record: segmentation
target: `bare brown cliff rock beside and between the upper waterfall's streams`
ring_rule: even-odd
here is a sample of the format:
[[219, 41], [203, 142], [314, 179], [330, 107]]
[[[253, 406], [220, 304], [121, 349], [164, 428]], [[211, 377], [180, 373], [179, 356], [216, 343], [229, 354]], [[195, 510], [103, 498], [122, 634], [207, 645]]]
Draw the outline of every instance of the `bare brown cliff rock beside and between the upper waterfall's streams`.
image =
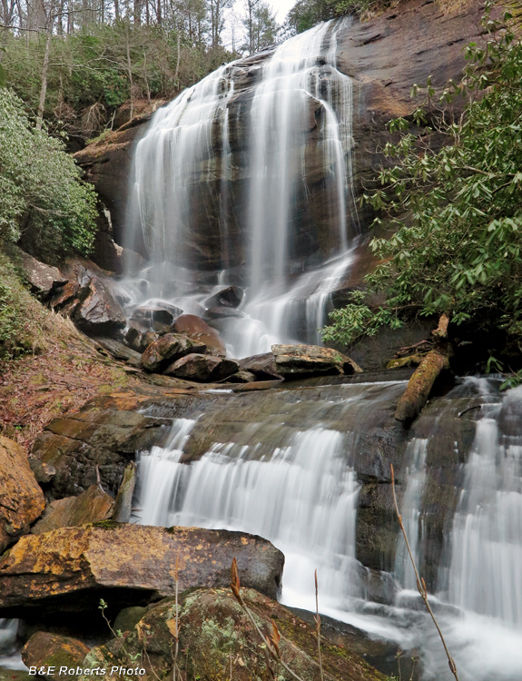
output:
[[[448, 79], [458, 79], [465, 65], [463, 47], [479, 41], [482, 5], [472, 2], [455, 12], [445, 12], [435, 0], [412, 0], [377, 19], [342, 28], [337, 36], [338, 67], [350, 75], [353, 84], [354, 185], [356, 192], [368, 186], [379, 168], [379, 149], [387, 139], [386, 123], [393, 117], [410, 114], [418, 102], [410, 98], [413, 84], [425, 84], [428, 76], [436, 88]], [[261, 66], [270, 52], [257, 54], [234, 65], [231, 78], [234, 94], [229, 109], [231, 179], [228, 183], [227, 253], [229, 264], [244, 261], [248, 156], [251, 150], [251, 97], [259, 84]], [[297, 251], [290, 256], [306, 259], [315, 252], [328, 253], [331, 247], [330, 168], [320, 155], [320, 103], [309, 100], [310, 116], [300, 120], [298, 153], [306, 157], [307, 196], [296, 198], [294, 223]], [[84, 167], [86, 179], [94, 183], [113, 219], [113, 236], [124, 243], [125, 206], [131, 176], [133, 144], [143, 135], [152, 114], [126, 123], [115, 133], [75, 154]], [[222, 144], [215, 135], [211, 155], [202, 158], [198, 172], [187, 183], [201, 185], [199, 200], [191, 206], [195, 229], [184, 244], [192, 266], [204, 270], [222, 267], [220, 234], [220, 193], [222, 192]], [[362, 227], [369, 222], [363, 214]], [[144, 253], [143, 244], [134, 246]]]

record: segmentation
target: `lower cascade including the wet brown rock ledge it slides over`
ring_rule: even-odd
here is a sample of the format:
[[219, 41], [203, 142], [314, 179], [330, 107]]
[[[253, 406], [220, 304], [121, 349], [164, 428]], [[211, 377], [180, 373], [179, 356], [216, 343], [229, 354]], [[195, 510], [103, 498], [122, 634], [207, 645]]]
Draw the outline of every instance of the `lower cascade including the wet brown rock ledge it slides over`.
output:
[[[141, 454], [139, 522], [268, 538], [285, 554], [284, 604], [315, 609], [317, 568], [321, 613], [419, 654], [423, 679], [451, 678], [392, 513], [373, 518], [371, 530], [395, 538], [395, 559], [381, 558], [381, 569], [359, 559], [373, 540], [361, 527], [365, 498], [389, 489], [379, 447], [365, 438], [382, 435], [382, 414], [402, 390], [403, 381], [340, 384], [281, 390], [272, 400], [223, 390], [208, 410], [174, 419], [167, 447]], [[425, 437], [414, 430], [397, 464], [404, 524], [459, 677], [515, 681], [522, 674], [522, 389], [502, 394], [495, 380], [466, 379], [435, 402], [419, 419]], [[452, 418], [469, 428], [458, 419], [469, 403], [475, 436], [466, 444], [444, 424]], [[195, 455], [203, 437], [205, 451]], [[430, 457], [440, 441], [457, 465], [445, 469]], [[441, 476], [454, 510], [430, 497]], [[437, 549], [440, 514], [446, 529]]]

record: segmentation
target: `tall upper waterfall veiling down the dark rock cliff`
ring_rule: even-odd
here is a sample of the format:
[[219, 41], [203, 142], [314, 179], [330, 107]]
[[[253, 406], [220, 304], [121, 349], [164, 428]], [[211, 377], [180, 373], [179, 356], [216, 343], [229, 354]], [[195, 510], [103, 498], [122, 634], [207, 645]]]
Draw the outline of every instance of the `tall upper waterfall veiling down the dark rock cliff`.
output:
[[121, 282], [129, 311], [154, 298], [201, 315], [233, 284], [241, 310], [215, 322], [231, 355], [320, 342], [359, 232], [353, 88], [336, 64], [350, 24], [223, 65], [154, 114], [134, 153], [126, 243], [152, 265]]

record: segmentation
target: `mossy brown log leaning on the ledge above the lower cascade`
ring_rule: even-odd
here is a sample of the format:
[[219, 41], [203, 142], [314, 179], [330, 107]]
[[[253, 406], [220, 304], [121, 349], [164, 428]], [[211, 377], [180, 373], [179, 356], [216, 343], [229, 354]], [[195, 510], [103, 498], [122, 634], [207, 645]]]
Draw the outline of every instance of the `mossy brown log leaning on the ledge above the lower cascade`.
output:
[[395, 410], [395, 418], [398, 421], [409, 423], [419, 416], [428, 400], [433, 384], [438, 379], [438, 375], [448, 367], [448, 352], [443, 350], [428, 352], [409, 379], [408, 387], [399, 400]]

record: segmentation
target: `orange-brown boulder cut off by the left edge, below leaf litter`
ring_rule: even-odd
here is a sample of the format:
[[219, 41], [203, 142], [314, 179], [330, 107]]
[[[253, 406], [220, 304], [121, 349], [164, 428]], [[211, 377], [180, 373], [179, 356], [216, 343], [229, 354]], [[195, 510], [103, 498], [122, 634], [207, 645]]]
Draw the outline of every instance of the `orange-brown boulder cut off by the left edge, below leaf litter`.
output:
[[0, 554], [29, 532], [45, 508], [29, 460], [19, 444], [0, 436]]

